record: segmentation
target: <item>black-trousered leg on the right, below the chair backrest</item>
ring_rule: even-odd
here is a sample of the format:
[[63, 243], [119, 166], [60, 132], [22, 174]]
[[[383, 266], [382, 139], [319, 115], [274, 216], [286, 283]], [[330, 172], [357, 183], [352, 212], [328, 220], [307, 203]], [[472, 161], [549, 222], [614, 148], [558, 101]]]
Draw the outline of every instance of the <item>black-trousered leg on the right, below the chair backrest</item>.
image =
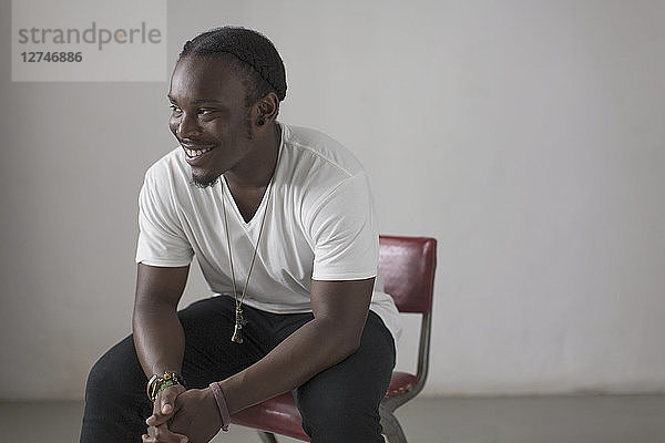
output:
[[382, 442], [379, 404], [393, 367], [392, 336], [370, 311], [360, 348], [295, 391], [313, 442]]

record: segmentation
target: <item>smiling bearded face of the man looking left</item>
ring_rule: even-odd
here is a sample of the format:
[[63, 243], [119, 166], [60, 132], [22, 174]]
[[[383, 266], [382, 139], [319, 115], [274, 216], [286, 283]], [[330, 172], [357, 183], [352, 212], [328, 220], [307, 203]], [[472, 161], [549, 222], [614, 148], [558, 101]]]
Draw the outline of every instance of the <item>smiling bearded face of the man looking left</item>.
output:
[[185, 56], [171, 76], [168, 126], [201, 187], [214, 185], [252, 146], [246, 86], [233, 68], [224, 56]]

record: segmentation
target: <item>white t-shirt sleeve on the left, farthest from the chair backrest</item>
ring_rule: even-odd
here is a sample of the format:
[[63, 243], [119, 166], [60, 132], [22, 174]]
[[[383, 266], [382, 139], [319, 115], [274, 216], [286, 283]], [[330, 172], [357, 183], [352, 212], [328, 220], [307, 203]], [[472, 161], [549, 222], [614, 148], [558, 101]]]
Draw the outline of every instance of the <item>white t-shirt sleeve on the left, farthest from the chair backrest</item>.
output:
[[139, 229], [136, 262], [178, 267], [192, 261], [194, 250], [181, 227], [167, 185], [157, 188], [150, 169], [139, 194]]

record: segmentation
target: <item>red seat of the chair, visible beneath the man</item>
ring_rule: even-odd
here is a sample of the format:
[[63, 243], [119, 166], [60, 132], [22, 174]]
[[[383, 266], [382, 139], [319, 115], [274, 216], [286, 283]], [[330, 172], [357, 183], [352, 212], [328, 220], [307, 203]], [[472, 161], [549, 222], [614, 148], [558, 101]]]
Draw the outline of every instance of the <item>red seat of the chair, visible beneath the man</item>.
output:
[[[386, 396], [390, 398], [409, 392], [417, 380], [416, 375], [408, 372], [392, 372]], [[296, 408], [296, 402], [290, 392], [236, 412], [231, 416], [231, 422], [309, 441], [309, 436], [303, 431], [300, 412]]]

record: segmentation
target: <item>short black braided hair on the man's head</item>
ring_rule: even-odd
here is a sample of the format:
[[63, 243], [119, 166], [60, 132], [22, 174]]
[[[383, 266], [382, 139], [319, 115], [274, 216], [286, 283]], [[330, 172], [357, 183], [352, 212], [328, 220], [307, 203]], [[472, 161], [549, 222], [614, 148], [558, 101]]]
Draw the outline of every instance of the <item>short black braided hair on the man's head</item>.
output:
[[264, 34], [238, 27], [216, 28], [187, 41], [178, 60], [187, 55], [231, 54], [237, 68], [249, 80], [247, 104], [254, 104], [269, 92], [279, 101], [286, 96], [286, 70], [275, 45]]

